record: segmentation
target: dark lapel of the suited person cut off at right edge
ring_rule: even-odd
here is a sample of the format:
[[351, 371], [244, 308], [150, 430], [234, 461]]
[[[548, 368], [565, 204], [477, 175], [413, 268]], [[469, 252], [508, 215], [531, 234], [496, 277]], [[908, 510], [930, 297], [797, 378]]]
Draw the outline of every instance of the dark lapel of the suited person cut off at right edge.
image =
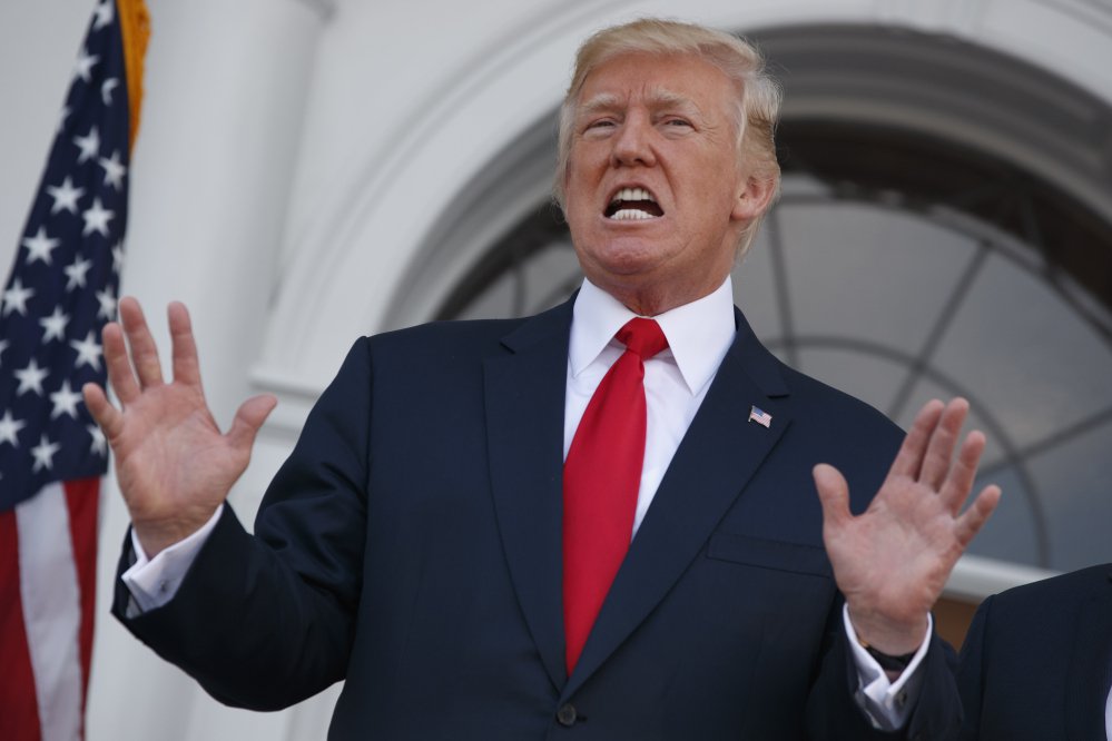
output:
[[1091, 596], [1081, 601], [1066, 671], [1067, 738], [1103, 739], [1104, 707], [1112, 686], [1112, 567], [1098, 571]]

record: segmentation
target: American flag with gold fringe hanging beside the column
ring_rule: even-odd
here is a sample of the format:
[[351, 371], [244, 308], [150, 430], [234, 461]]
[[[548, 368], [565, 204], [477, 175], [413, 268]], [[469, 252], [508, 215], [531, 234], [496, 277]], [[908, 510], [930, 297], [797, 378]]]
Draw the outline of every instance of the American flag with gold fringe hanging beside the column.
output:
[[[121, 19], [121, 12], [124, 18]], [[81, 386], [104, 384], [116, 316], [138, 97], [126, 40], [146, 11], [100, 0], [0, 296], [0, 739], [83, 735], [104, 435]], [[141, 46], [139, 58], [141, 60]], [[128, 47], [134, 52], [136, 47]]]

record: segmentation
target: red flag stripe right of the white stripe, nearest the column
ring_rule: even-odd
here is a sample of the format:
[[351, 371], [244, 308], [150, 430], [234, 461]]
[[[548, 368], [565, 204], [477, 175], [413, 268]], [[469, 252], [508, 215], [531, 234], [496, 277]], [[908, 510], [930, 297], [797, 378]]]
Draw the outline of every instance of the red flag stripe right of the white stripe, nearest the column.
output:
[[[100, 480], [81, 478], [66, 482], [66, 503], [69, 508], [69, 530], [77, 563], [77, 583], [81, 595], [81, 655], [82, 704], [89, 689], [89, 669], [92, 662], [92, 628], [97, 610], [97, 526], [100, 517]], [[82, 719], [85, 714], [81, 714]]]

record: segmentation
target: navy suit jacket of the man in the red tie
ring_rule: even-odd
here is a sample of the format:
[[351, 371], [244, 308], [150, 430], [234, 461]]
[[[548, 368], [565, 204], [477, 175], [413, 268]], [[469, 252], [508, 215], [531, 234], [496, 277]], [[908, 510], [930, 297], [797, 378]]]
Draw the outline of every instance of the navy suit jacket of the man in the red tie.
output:
[[[128, 628], [217, 699], [346, 679], [331, 739], [888, 738], [853, 701], [811, 481], [864, 508], [899, 431], [738, 336], [571, 676], [561, 472], [571, 304], [357, 342], [259, 510]], [[751, 405], [773, 416], [749, 423]], [[126, 562], [126, 554], [125, 554]], [[937, 643], [937, 641], [935, 641]], [[941, 645], [907, 729], [956, 732]]]

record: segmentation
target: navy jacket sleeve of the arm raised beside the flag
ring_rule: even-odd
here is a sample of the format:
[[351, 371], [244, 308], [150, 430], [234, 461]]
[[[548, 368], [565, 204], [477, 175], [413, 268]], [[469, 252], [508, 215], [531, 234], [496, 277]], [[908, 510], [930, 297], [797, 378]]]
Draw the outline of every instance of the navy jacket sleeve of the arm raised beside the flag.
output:
[[[116, 616], [220, 702], [275, 710], [345, 676], [366, 536], [371, 378], [363, 339], [268, 487], [255, 535], [226, 506], [169, 603], [128, 618], [117, 577]], [[126, 543], [120, 572], [129, 552]]]

